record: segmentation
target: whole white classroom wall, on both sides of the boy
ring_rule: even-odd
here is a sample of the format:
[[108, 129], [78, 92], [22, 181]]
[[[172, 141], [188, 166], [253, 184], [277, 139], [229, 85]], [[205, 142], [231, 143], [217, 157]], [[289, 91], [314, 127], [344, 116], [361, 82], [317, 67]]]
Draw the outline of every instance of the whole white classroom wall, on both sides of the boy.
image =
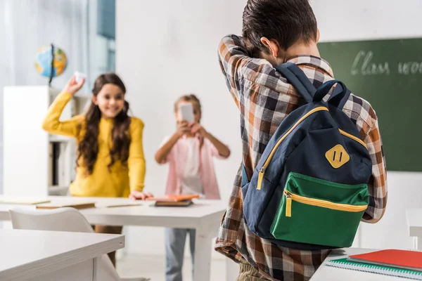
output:
[[[241, 162], [239, 115], [217, 61], [224, 34], [241, 32], [246, 1], [117, 0], [116, 67], [127, 84], [134, 115], [146, 123], [146, 190], [164, 192], [166, 166], [153, 155], [162, 138], [173, 133], [172, 105], [183, 93], [203, 102], [203, 125], [227, 143], [232, 155], [216, 161], [222, 198], [227, 200]], [[421, 37], [422, 4], [418, 0], [312, 0], [321, 41]], [[381, 10], [383, 11], [381, 12]], [[382, 122], [382, 120], [380, 121]], [[382, 132], [381, 132], [382, 133]], [[387, 155], [388, 162], [388, 155]], [[389, 201], [383, 220], [361, 228], [361, 247], [411, 247], [404, 210], [422, 206], [421, 173], [388, 173]], [[126, 228], [126, 251], [163, 254], [162, 230]], [[215, 254], [215, 257], [222, 256]]]

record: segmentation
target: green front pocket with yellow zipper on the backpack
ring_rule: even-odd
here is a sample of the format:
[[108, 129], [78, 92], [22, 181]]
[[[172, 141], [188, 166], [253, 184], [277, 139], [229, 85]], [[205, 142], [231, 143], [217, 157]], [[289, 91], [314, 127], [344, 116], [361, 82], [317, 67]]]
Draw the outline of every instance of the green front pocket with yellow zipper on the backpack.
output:
[[278, 240], [350, 247], [368, 204], [366, 184], [345, 185], [290, 173], [271, 235]]

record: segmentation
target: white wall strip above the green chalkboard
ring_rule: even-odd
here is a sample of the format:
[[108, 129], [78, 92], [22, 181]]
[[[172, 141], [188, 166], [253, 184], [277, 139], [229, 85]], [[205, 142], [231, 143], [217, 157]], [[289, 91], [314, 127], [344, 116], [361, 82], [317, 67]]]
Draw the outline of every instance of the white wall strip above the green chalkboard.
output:
[[320, 41], [421, 37], [422, 1], [311, 0]]

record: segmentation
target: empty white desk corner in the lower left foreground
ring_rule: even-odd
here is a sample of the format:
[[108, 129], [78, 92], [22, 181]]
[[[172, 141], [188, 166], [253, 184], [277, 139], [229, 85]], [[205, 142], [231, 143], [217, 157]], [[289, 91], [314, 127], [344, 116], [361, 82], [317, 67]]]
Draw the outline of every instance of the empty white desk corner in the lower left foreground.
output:
[[124, 235], [0, 229], [0, 280], [95, 280], [95, 259]]

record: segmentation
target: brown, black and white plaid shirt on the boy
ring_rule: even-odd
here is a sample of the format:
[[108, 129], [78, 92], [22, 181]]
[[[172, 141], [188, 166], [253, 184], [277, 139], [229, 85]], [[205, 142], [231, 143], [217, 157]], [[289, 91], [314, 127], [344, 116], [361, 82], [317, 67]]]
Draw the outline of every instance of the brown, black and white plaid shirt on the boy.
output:
[[[297, 64], [315, 87], [333, 79], [331, 66], [321, 58], [300, 55], [289, 61]], [[219, 62], [241, 112], [243, 162], [250, 178], [269, 139], [283, 119], [301, 105], [302, 98], [267, 60], [249, 58], [241, 37], [222, 39]], [[370, 202], [363, 221], [376, 223], [387, 203], [385, 158], [376, 113], [366, 100], [354, 95], [343, 112], [356, 124], [371, 155]], [[251, 233], [243, 219], [241, 174], [240, 163], [215, 249], [237, 262], [245, 259], [269, 280], [309, 280], [329, 250], [288, 249]]]

